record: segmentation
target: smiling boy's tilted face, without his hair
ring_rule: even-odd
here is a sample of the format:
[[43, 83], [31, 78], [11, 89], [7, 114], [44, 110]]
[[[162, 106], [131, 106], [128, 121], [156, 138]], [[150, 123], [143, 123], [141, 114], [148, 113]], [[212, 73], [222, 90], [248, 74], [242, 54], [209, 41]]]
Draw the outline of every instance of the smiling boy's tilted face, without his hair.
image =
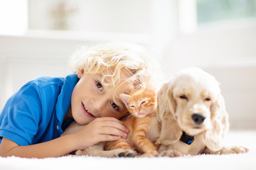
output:
[[71, 111], [75, 121], [81, 125], [90, 123], [95, 118], [121, 118], [128, 111], [119, 98], [124, 89], [117, 89], [116, 103], [113, 98], [114, 86], [103, 86], [100, 74], [78, 74], [71, 97]]

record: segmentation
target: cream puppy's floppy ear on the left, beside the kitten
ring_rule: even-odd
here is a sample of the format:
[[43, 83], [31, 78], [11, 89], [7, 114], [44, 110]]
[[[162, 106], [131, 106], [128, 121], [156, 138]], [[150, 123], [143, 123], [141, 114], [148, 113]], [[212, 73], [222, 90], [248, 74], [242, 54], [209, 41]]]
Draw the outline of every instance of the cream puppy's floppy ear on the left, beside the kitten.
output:
[[176, 103], [173, 97], [171, 82], [164, 84], [157, 95], [156, 118], [161, 123], [159, 140], [161, 145], [171, 145], [177, 142], [182, 130], [179, 128], [176, 117]]

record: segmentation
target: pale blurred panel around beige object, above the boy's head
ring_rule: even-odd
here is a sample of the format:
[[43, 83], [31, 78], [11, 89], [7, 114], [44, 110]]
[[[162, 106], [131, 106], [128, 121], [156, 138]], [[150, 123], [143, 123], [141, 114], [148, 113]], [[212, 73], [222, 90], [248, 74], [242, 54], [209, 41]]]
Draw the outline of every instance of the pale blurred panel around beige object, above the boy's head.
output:
[[70, 15], [65, 18], [69, 30], [110, 33], [150, 33], [151, 1], [149, 0], [31, 0], [30, 26], [53, 29], [54, 11], [65, 2]]

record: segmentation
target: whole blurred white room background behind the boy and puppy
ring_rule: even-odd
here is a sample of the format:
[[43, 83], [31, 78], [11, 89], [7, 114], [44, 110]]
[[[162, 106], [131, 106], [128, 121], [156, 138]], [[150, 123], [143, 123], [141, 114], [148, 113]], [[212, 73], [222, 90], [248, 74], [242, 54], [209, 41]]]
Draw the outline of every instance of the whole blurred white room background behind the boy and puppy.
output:
[[0, 110], [31, 79], [65, 77], [78, 45], [146, 47], [166, 79], [201, 67], [233, 130], [256, 129], [255, 0], [0, 0]]

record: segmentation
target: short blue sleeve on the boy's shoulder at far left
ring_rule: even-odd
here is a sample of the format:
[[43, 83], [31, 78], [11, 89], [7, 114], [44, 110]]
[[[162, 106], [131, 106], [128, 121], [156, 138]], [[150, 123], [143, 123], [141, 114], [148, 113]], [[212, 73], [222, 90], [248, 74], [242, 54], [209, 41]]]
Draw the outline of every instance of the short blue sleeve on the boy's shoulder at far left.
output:
[[11, 96], [0, 115], [0, 136], [18, 145], [31, 145], [41, 122], [42, 106], [38, 86], [26, 84]]

